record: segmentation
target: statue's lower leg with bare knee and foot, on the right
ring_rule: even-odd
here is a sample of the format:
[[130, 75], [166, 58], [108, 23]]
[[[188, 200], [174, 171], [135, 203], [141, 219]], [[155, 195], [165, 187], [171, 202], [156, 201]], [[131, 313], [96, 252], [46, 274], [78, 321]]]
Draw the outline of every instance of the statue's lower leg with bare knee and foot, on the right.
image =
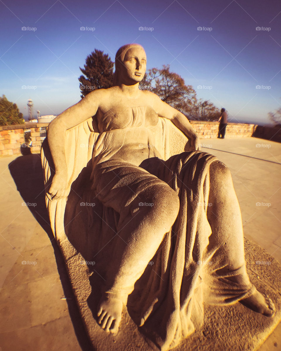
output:
[[[251, 289], [244, 258], [244, 236], [240, 206], [230, 171], [220, 161], [214, 161], [210, 165], [208, 203], [209, 205], [212, 204], [207, 209], [207, 218], [212, 234], [209, 237], [207, 252], [213, 255], [211, 261], [216, 261], [213, 274], [217, 275], [218, 278], [224, 277], [222, 280], [229, 280], [230, 286], [233, 283], [235, 289], [237, 289], [237, 286], [238, 288], [241, 286], [247, 290], [248, 286], [250, 296], [249, 294], [244, 294], [244, 296], [242, 294], [240, 302], [256, 312], [272, 316], [274, 306], [271, 300], [266, 299], [255, 288]], [[211, 270], [212, 266], [210, 266], [209, 271]], [[236, 291], [239, 291], [239, 289]]]

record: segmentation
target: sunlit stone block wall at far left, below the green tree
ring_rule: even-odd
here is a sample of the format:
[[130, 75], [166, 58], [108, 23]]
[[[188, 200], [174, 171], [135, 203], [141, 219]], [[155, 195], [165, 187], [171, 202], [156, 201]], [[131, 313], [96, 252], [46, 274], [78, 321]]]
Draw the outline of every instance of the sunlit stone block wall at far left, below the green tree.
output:
[[[0, 126], [0, 156], [40, 152], [40, 127], [47, 127], [48, 123], [25, 123]], [[32, 147], [28, 147], [24, 140], [24, 131], [30, 129]]]

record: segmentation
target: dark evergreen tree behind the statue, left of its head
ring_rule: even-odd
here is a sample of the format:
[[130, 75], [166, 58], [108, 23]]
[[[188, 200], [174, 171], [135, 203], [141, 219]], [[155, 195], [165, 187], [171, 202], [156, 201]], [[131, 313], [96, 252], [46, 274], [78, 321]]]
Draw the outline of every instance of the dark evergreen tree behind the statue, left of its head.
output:
[[104, 54], [101, 50], [94, 49], [87, 56], [84, 68], [79, 67], [80, 71], [84, 74], [78, 78], [81, 98], [93, 90], [112, 87], [113, 65], [114, 63], [108, 57], [108, 54]]

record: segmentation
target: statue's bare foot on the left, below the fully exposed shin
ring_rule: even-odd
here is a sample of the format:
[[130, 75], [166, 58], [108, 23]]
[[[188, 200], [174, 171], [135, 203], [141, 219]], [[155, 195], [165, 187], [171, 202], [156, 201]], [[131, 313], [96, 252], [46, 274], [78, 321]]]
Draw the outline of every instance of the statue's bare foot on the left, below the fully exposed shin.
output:
[[103, 296], [98, 305], [98, 323], [107, 332], [118, 333], [122, 318], [123, 302], [116, 297]]

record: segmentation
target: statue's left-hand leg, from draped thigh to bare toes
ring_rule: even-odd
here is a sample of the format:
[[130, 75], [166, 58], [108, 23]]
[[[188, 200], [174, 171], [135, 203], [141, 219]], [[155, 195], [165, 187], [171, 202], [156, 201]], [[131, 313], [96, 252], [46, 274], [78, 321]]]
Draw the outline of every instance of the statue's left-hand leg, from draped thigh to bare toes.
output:
[[[115, 334], [123, 303], [176, 220], [179, 199], [168, 184], [136, 166], [115, 168], [103, 177], [111, 184], [106, 204], [119, 207], [120, 220], [115, 257], [109, 263], [106, 288], [98, 305], [98, 322]], [[110, 179], [116, 179], [117, 184]]]

